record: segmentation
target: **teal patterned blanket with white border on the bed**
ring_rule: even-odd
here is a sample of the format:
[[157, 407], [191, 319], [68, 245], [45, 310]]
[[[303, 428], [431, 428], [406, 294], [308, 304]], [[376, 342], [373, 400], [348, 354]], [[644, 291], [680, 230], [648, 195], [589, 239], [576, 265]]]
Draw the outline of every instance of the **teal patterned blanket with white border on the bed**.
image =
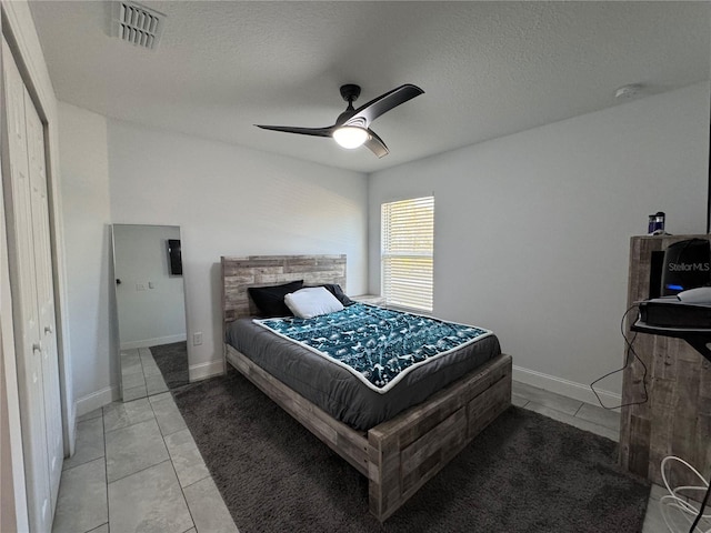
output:
[[254, 322], [344, 366], [381, 393], [412, 369], [492, 334], [472, 325], [363, 303], [312, 319]]

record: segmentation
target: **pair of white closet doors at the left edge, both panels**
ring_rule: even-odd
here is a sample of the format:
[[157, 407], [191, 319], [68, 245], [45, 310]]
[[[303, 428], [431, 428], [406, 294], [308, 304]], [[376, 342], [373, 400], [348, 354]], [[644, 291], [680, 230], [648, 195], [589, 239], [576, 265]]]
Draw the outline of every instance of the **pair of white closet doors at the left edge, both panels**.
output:
[[28, 514], [32, 532], [49, 532], [63, 449], [42, 124], [4, 39], [2, 64], [10, 168], [3, 189]]

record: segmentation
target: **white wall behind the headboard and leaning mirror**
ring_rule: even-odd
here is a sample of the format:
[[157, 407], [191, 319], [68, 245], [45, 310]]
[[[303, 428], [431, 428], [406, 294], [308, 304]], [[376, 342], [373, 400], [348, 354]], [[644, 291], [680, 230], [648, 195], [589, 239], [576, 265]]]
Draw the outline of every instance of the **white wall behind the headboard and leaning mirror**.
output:
[[191, 379], [222, 371], [221, 255], [346, 253], [367, 288], [367, 177], [109, 120], [114, 223], [179, 225]]

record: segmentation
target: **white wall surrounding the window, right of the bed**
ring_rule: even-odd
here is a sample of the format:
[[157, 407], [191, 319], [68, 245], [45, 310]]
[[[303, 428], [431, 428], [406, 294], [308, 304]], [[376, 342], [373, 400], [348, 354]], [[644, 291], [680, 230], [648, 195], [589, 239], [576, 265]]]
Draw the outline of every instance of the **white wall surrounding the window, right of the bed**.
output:
[[[370, 290], [380, 204], [434, 193], [434, 314], [493, 329], [515, 379], [592, 401], [622, 362], [630, 237], [660, 210], [705, 231], [708, 158], [700, 83], [377, 172]], [[614, 402], [621, 378], [599, 386]]]

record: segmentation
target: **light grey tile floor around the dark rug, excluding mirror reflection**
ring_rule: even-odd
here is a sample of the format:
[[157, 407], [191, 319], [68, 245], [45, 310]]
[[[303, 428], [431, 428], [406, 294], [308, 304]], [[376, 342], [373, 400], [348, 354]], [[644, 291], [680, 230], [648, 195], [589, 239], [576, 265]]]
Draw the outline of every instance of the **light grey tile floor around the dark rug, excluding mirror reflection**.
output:
[[[618, 440], [619, 414], [523, 383], [513, 404]], [[652, 489], [642, 533], [668, 533]], [[687, 525], [688, 526], [688, 525]], [[237, 532], [170, 393], [82, 416], [64, 462], [53, 532]], [[680, 530], [682, 531], [682, 530]]]

